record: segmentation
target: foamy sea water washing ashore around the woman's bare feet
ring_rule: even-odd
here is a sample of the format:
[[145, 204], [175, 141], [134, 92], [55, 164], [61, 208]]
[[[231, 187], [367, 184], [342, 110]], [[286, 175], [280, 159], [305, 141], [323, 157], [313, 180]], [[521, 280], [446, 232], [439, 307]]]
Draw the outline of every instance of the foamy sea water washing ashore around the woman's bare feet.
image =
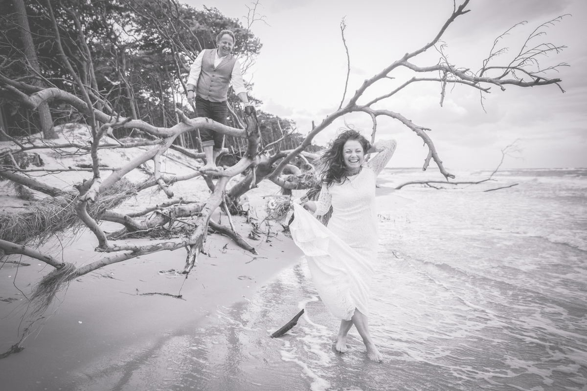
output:
[[[421, 176], [386, 169], [378, 183]], [[587, 169], [494, 179], [406, 186], [393, 192], [409, 200], [399, 208], [380, 198], [369, 325], [383, 363], [366, 358], [355, 328], [349, 351], [335, 352], [339, 321], [302, 259], [168, 339], [166, 378], [144, 372], [145, 389], [587, 390]], [[302, 308], [298, 325], [269, 338]]]

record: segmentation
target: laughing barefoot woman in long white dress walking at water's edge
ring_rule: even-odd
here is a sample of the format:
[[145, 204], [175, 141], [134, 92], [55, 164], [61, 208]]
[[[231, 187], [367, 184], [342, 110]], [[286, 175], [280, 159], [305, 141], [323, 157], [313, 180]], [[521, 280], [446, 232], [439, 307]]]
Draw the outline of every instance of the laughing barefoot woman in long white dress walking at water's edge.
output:
[[[372, 361], [382, 361], [369, 334], [369, 286], [377, 257], [375, 179], [396, 149], [396, 141], [373, 146], [355, 130], [345, 130], [321, 157], [322, 190], [318, 201], [302, 202], [313, 216], [328, 213], [328, 228], [294, 200], [290, 225], [295, 243], [304, 251], [312, 278], [326, 308], [341, 319], [336, 351], [347, 351], [346, 336], [354, 324]], [[365, 163], [365, 155], [379, 152]]]

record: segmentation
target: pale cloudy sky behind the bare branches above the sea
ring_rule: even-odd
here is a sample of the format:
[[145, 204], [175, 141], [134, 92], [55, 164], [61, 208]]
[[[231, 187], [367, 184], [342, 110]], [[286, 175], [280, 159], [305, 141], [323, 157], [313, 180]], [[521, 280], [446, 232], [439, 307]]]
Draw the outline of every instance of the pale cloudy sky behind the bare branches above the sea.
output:
[[[241, 0], [187, 3], [196, 8], [215, 6], [234, 18], [242, 18], [247, 14], [245, 5], [252, 5]], [[568, 46], [558, 55], [541, 59], [542, 66], [570, 65], [550, 75], [562, 79], [566, 93], [555, 85], [508, 86], [505, 91], [492, 87], [484, 101], [485, 113], [477, 90], [456, 86], [447, 91], [444, 107], [440, 107], [440, 86], [426, 82], [411, 84], [374, 108], [402, 113], [431, 128], [430, 136], [449, 169], [493, 168], [500, 161], [500, 149], [518, 138], [521, 158], [508, 158], [506, 167], [586, 167], [587, 1], [472, 0], [468, 9], [471, 12], [457, 18], [443, 40], [449, 62], [473, 72], [481, 67], [494, 39], [515, 23], [528, 22], [502, 41], [510, 52], [494, 64], [507, 64], [542, 23], [571, 14], [545, 29], [548, 35], [541, 38]], [[263, 110], [296, 121], [298, 131], [307, 134], [311, 121], [320, 123], [338, 108], [342, 98], [347, 67], [339, 28], [343, 17], [351, 63], [348, 101], [363, 80], [430, 42], [452, 11], [452, 0], [262, 0], [258, 12], [268, 24], [255, 22], [252, 31], [263, 48], [245, 77], [254, 83], [253, 94], [264, 102]], [[437, 60], [438, 53], [430, 49], [411, 61], [430, 66]], [[402, 70], [390, 76], [397, 79], [379, 81], [359, 104], [393, 89], [412, 74]], [[370, 137], [370, 117], [350, 114], [316, 136], [315, 142], [326, 144], [345, 121]], [[398, 121], [383, 117], [378, 121], [376, 139], [398, 141], [393, 166], [421, 166], [427, 154], [421, 139]]]

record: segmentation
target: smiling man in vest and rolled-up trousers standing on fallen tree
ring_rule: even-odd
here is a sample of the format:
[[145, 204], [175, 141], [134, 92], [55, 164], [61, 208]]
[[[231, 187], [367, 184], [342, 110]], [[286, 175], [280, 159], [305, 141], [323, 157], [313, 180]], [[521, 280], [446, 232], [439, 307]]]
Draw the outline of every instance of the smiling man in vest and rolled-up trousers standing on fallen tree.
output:
[[[196, 57], [187, 79], [187, 100], [194, 100], [195, 114], [226, 125], [228, 115], [227, 94], [232, 81], [234, 93], [246, 106], [251, 106], [242, 81], [241, 64], [230, 54], [234, 46], [234, 33], [222, 30], [216, 36], [218, 49], [205, 49]], [[200, 129], [206, 165], [200, 170], [217, 170], [216, 158], [222, 148], [224, 134], [210, 129]]]

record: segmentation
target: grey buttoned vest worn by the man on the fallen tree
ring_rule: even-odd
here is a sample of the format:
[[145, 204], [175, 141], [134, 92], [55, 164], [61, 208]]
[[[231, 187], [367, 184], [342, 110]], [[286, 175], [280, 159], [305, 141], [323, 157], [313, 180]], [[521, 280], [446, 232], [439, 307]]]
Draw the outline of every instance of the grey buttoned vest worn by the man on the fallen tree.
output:
[[215, 55], [216, 49], [204, 50], [202, 70], [195, 93], [205, 100], [222, 102], [227, 100], [228, 84], [230, 84], [232, 68], [237, 59], [229, 54], [214, 68]]

